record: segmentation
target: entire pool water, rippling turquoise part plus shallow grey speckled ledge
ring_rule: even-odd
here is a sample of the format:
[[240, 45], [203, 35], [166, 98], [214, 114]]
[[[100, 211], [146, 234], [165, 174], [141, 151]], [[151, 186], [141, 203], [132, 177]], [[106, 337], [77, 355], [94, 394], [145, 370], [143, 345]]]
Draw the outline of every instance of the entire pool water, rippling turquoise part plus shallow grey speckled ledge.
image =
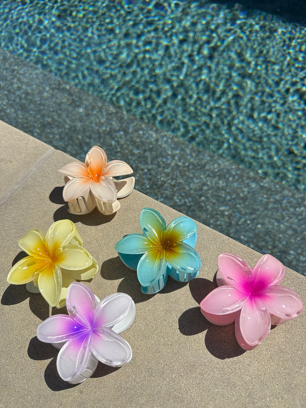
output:
[[2, 1], [0, 118], [304, 273], [303, 15], [223, 3]]

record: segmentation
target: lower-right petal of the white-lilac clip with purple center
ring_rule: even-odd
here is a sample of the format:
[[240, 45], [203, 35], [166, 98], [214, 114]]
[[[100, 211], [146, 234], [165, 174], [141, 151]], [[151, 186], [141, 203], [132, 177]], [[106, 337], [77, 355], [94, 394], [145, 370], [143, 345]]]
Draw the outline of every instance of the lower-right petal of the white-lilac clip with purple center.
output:
[[107, 327], [92, 333], [90, 350], [99, 361], [108, 366], [122, 366], [132, 358], [129, 343]]

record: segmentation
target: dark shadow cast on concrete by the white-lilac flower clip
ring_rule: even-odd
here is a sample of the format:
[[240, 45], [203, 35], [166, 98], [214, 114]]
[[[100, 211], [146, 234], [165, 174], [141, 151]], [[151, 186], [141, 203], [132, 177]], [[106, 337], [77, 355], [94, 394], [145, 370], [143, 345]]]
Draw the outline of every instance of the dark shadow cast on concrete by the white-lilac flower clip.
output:
[[[52, 344], [44, 343], [43, 341], [38, 340], [35, 336], [33, 337], [28, 346], [28, 356], [32, 360], [48, 360], [51, 359], [44, 371], [44, 380], [46, 381], [47, 386], [52, 391], [62, 391], [74, 388], [80, 384], [69, 384], [67, 381], [64, 381], [58, 375], [58, 369], [56, 367], [56, 359], [58, 356], [58, 349], [52, 346]], [[92, 378], [104, 377], [105, 375], [111, 374], [114, 371], [119, 370], [120, 367], [110, 367], [106, 364], [98, 363], [98, 367], [91, 376]], [[90, 378], [91, 378], [90, 377]], [[89, 381], [90, 378], [87, 380]]]

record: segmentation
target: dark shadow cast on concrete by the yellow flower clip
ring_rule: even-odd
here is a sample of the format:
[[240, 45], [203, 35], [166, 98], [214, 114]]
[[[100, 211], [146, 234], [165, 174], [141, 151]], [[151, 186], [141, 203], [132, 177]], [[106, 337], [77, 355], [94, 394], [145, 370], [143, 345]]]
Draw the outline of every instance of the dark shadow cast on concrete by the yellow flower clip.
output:
[[[20, 251], [13, 259], [14, 266], [20, 259], [27, 257], [28, 254]], [[26, 285], [10, 284], [5, 290], [1, 298], [1, 304], [6, 306], [16, 305], [24, 302], [29, 298], [29, 306], [31, 311], [39, 319], [44, 320], [49, 317], [49, 304], [44, 300], [40, 293], [31, 293], [26, 289]]]

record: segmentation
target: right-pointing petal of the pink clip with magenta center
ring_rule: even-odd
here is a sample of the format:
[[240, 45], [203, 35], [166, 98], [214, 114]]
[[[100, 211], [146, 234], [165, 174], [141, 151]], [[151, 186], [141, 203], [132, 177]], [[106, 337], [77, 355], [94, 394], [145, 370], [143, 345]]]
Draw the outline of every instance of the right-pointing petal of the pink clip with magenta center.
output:
[[[272, 315], [279, 317], [284, 323], [294, 319], [303, 311], [303, 302], [299, 295], [285, 286], [269, 286], [264, 290], [260, 299]], [[278, 324], [275, 322], [274, 324]]]

